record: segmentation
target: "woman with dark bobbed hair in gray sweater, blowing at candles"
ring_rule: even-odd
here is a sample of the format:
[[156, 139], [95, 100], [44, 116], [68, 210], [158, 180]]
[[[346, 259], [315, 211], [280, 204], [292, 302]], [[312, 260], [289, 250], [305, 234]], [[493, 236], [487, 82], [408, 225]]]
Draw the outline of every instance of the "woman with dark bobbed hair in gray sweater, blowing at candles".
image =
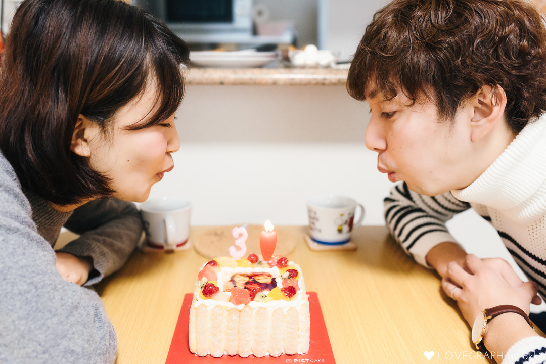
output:
[[[0, 362], [115, 361], [85, 286], [127, 259], [142, 231], [127, 201], [173, 168], [188, 55], [122, 1], [17, 9], [0, 63]], [[81, 236], [55, 252], [63, 225]]]

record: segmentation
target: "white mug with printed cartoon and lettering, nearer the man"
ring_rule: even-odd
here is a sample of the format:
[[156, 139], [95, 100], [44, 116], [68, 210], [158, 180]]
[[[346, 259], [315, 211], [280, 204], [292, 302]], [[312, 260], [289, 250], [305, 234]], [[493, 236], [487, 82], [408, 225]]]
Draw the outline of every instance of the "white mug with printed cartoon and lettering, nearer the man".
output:
[[[354, 214], [360, 207], [360, 217]], [[351, 240], [351, 231], [364, 219], [364, 206], [357, 201], [337, 195], [314, 196], [307, 200], [309, 235], [317, 243], [339, 245]]]

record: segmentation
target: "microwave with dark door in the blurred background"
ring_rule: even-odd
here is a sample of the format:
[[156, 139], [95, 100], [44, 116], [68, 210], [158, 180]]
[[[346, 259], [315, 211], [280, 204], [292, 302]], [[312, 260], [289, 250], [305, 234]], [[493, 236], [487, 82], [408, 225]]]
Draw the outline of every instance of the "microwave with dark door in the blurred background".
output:
[[252, 33], [252, 0], [162, 0], [175, 33]]

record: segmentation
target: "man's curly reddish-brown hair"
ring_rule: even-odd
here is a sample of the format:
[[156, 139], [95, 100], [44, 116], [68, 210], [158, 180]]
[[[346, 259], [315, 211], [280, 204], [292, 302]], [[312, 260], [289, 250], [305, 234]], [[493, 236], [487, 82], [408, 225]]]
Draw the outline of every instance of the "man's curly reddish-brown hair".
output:
[[[347, 90], [385, 99], [426, 97], [442, 120], [480, 88], [506, 92], [515, 134], [546, 111], [546, 31], [532, 7], [512, 0], [395, 0], [377, 11], [354, 55]], [[494, 102], [498, 102], [494, 93]]]

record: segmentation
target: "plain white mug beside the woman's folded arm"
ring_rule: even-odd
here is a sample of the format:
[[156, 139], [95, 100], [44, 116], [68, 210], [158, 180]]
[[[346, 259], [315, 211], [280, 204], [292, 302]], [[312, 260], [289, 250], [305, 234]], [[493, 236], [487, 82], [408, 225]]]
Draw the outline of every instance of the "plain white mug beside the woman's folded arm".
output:
[[190, 202], [179, 197], [149, 199], [140, 205], [146, 238], [151, 246], [172, 250], [189, 236]]

